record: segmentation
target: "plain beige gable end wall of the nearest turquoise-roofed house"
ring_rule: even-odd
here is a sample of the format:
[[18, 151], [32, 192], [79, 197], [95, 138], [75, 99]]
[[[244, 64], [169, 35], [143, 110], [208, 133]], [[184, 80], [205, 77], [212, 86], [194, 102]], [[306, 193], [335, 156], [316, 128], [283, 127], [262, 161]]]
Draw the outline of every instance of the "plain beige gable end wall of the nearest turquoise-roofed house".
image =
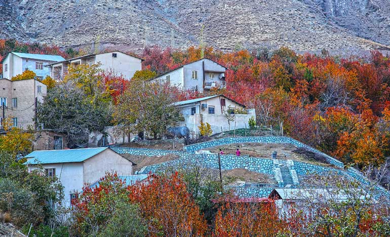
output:
[[103, 152], [84, 161], [84, 176], [85, 183], [94, 183], [99, 178], [105, 175], [105, 172], [116, 171], [118, 175], [132, 175], [133, 163], [111, 149], [106, 149]]

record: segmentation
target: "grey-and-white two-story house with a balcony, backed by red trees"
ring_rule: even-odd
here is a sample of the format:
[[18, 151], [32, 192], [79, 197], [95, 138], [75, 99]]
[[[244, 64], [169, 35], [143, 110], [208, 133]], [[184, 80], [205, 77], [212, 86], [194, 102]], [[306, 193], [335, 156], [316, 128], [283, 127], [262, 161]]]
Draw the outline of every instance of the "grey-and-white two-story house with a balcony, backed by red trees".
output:
[[225, 88], [225, 71], [224, 66], [203, 58], [164, 73], [156, 79], [184, 90], [203, 93], [211, 88]]

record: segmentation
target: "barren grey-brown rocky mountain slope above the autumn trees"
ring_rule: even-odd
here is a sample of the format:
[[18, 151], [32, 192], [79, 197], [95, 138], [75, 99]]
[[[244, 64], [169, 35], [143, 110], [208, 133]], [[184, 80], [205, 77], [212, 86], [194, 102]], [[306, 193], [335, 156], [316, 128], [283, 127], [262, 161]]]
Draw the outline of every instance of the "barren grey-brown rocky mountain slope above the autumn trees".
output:
[[[139, 49], [390, 49], [389, 0], [0, 0], [0, 38]], [[387, 45], [387, 46], [386, 46]]]

